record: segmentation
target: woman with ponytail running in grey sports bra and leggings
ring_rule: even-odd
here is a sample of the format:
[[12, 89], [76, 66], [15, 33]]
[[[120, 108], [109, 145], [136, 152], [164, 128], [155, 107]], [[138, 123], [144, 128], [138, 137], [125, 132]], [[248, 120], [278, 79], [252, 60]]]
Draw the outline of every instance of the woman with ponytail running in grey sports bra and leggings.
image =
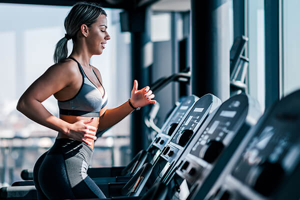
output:
[[[17, 110], [37, 123], [58, 131], [53, 146], [34, 165], [38, 199], [101, 198], [102, 191], [86, 174], [97, 130], [108, 128], [135, 108], [155, 103], [148, 86], [137, 90], [122, 105], [107, 109], [107, 94], [100, 72], [89, 64], [101, 54], [107, 32], [105, 11], [95, 3], [76, 3], [64, 21], [65, 36], [55, 48], [54, 62], [23, 93]], [[67, 40], [73, 49], [67, 57]], [[41, 104], [50, 95], [58, 100], [59, 118]]]

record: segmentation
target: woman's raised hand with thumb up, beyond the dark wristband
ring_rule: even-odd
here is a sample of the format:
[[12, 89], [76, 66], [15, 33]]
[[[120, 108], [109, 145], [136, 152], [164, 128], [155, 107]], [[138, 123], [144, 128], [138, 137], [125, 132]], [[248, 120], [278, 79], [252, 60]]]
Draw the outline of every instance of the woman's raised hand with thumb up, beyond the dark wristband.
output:
[[130, 97], [130, 102], [134, 107], [143, 107], [147, 104], [156, 103], [156, 100], [152, 100], [154, 96], [149, 86], [137, 90], [137, 80], [134, 80]]

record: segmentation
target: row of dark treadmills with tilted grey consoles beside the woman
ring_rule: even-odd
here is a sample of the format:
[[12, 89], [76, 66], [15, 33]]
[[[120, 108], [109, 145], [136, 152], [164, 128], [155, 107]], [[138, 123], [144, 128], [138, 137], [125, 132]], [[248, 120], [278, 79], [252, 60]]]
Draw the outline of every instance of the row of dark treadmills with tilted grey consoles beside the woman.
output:
[[[223, 103], [187, 96], [146, 150], [126, 167], [102, 168], [110, 177], [94, 169], [93, 180], [106, 199], [298, 199], [299, 100], [300, 90], [261, 116], [246, 94]], [[0, 197], [36, 199], [34, 189], [3, 187]]]

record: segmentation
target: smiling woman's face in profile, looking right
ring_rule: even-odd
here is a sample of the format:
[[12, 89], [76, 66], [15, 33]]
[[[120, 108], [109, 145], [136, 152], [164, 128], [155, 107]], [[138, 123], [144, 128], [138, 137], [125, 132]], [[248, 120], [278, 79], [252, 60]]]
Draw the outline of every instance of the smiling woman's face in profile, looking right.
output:
[[88, 27], [86, 41], [90, 52], [97, 55], [101, 54], [108, 39], [110, 36], [107, 32], [107, 19], [104, 14], [101, 14], [97, 21]]

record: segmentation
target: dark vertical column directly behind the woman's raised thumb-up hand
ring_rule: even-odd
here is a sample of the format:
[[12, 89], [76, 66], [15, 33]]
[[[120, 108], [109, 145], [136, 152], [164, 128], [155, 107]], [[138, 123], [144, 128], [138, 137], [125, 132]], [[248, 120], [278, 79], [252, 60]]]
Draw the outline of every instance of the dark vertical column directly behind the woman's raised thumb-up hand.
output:
[[[129, 13], [131, 23], [131, 78], [138, 81], [138, 89], [150, 84], [153, 44], [150, 38], [150, 9]], [[144, 27], [144, 28], [142, 28]], [[132, 112], [131, 151], [134, 156], [147, 146], [146, 126], [143, 119], [148, 106]]]

